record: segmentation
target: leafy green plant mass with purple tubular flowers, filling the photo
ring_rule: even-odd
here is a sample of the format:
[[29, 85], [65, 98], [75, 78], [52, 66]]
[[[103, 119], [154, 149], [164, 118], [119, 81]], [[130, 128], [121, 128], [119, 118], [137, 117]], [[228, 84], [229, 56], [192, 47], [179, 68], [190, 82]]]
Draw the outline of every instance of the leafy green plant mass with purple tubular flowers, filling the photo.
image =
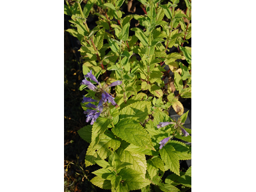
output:
[[[79, 90], [90, 122], [78, 131], [90, 143], [84, 163], [102, 167], [90, 180], [102, 189], [186, 191], [191, 167], [180, 161], [191, 159], [191, 129], [181, 99], [191, 98], [191, 1], [138, 1], [144, 15], [132, 1], [66, 1], [67, 31], [81, 42]], [[125, 6], [135, 13], [124, 16]], [[90, 13], [97, 17], [92, 29]]]

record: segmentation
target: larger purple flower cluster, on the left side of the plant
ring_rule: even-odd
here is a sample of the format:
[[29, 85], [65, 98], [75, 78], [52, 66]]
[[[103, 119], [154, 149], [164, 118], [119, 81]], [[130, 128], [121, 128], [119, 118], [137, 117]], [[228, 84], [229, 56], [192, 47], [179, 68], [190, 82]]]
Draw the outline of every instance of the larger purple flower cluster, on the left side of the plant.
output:
[[[94, 84], [92, 84], [90, 81], [88, 81], [86, 78], [90, 78], [92, 79], [92, 81], [95, 81], [95, 83], [99, 84], [99, 88], [97, 88], [97, 86], [95, 86]], [[114, 83], [109, 84], [109, 86], [104, 86], [105, 88], [102, 88], [101, 84], [97, 81], [96, 77], [93, 76], [92, 74], [92, 70], [90, 72], [88, 72], [87, 75], [84, 76], [84, 80], [82, 81], [81, 84], [85, 84], [88, 86], [88, 88], [90, 90], [93, 90], [94, 92], [100, 93], [99, 95], [99, 99], [100, 100], [95, 100], [92, 99], [90, 97], [84, 97], [83, 98], [83, 103], [84, 102], [98, 102], [99, 104], [98, 106], [95, 106], [95, 104], [89, 103], [86, 104], [85, 106], [87, 108], [93, 108], [93, 109], [87, 109], [86, 111], [84, 111], [84, 114], [86, 114], [86, 122], [91, 121], [91, 125], [94, 124], [94, 122], [96, 122], [96, 119], [100, 116], [100, 113], [103, 110], [103, 104], [104, 102], [111, 102], [111, 104], [113, 104], [114, 106], [117, 106], [116, 102], [115, 102], [115, 98], [112, 97], [111, 95], [109, 95], [108, 93], [108, 89], [111, 86], [116, 86], [116, 85], [120, 85], [122, 84], [122, 81], [115, 81]]]

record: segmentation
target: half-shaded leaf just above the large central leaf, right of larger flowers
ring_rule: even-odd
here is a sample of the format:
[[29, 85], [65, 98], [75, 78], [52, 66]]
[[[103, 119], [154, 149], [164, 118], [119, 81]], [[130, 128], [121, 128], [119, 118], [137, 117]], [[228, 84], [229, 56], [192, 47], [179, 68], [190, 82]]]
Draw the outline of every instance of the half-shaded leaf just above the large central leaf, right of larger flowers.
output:
[[120, 111], [119, 119], [132, 118], [132, 120], [143, 122], [148, 119], [150, 107], [151, 102], [148, 101], [134, 102]]

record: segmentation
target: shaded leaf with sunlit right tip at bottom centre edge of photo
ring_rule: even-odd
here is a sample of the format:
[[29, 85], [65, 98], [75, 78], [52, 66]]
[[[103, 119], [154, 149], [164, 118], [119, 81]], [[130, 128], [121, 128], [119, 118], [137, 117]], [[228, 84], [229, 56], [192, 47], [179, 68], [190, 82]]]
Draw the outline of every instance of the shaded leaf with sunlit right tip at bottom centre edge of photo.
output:
[[150, 184], [150, 181], [148, 179], [144, 179], [141, 173], [130, 168], [122, 169], [119, 175], [124, 179], [124, 184], [127, 184], [129, 191], [138, 190]]

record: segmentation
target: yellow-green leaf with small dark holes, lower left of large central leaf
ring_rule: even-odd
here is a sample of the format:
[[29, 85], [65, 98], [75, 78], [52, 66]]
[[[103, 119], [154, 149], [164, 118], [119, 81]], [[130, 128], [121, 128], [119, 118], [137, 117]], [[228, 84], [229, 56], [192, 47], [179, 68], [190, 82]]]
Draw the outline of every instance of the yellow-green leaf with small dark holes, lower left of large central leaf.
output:
[[108, 136], [102, 134], [97, 145], [95, 145], [95, 140], [92, 140], [85, 156], [86, 167], [95, 164], [95, 160], [106, 159], [106, 157], [120, 147], [120, 144], [121, 142], [115, 136], [110, 136], [110, 134]]

